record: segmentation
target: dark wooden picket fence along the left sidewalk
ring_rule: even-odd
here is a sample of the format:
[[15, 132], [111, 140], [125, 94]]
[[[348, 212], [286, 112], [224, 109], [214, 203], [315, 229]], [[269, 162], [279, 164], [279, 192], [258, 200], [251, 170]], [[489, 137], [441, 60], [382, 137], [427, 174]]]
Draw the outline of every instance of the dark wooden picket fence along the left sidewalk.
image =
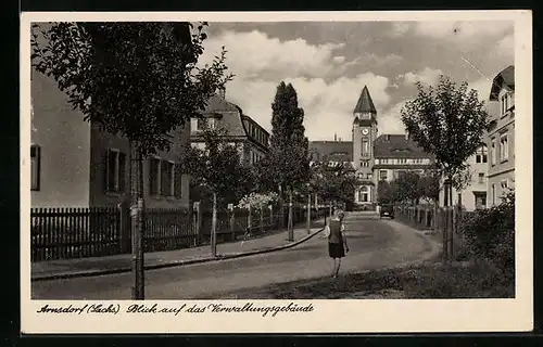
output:
[[[311, 220], [321, 219], [327, 208], [311, 209]], [[251, 237], [282, 229], [288, 221], [288, 207], [281, 220], [279, 210], [219, 208], [217, 242]], [[306, 209], [293, 207], [293, 223], [306, 221]], [[146, 208], [144, 252], [173, 250], [210, 242], [212, 213], [188, 209]], [[33, 208], [31, 261], [73, 259], [128, 254], [131, 252], [130, 217], [127, 206], [91, 208]]]

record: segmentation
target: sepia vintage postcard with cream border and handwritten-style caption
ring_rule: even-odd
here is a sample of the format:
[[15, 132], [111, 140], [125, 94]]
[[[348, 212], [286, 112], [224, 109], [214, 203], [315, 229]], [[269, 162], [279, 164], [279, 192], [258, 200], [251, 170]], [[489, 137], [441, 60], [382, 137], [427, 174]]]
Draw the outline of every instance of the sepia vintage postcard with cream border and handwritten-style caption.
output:
[[21, 21], [24, 333], [532, 330], [530, 11]]

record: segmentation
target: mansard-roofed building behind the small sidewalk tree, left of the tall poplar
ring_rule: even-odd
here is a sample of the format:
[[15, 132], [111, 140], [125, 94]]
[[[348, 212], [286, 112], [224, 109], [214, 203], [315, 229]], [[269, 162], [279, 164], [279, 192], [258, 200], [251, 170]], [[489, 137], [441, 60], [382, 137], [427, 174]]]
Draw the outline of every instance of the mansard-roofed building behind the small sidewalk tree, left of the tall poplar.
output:
[[213, 95], [202, 113], [202, 118], [191, 119], [190, 141], [192, 146], [204, 149], [202, 130], [224, 129], [223, 141], [236, 145], [245, 165], [254, 165], [269, 152], [269, 133], [240, 106], [228, 102], [225, 90]]

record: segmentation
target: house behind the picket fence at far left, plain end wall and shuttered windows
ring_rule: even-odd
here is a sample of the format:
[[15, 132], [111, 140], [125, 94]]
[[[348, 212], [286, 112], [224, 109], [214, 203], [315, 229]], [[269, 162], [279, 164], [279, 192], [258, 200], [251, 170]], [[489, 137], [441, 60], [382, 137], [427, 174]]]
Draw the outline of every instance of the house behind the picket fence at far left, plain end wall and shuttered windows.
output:
[[[130, 201], [128, 140], [101, 131], [74, 111], [54, 80], [33, 70], [33, 207], [102, 207]], [[144, 159], [149, 207], [189, 206], [189, 177], [176, 170], [190, 128], [172, 132], [172, 150]]]

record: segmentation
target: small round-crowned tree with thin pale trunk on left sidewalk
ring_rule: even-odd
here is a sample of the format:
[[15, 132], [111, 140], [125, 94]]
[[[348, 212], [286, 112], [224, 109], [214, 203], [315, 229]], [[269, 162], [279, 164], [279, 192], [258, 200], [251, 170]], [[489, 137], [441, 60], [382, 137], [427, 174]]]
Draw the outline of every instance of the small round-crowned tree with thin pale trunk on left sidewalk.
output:
[[179, 169], [191, 176], [192, 184], [207, 189], [213, 196], [212, 256], [216, 256], [217, 202], [237, 202], [251, 190], [251, 171], [241, 164], [236, 145], [224, 143], [224, 129], [204, 129], [205, 150], [187, 144]]

